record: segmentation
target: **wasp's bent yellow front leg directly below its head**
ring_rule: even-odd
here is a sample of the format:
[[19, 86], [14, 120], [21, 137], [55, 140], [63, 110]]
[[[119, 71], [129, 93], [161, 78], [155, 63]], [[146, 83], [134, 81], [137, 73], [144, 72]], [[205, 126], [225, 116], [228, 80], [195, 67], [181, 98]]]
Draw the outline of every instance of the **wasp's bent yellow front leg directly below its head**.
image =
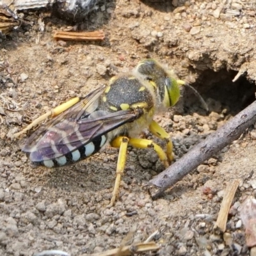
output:
[[152, 123], [149, 125], [149, 131], [152, 132], [155, 136], [158, 138], [166, 141], [166, 154], [170, 162], [173, 161], [173, 145], [172, 140], [170, 138], [170, 135], [164, 131], [163, 127], [161, 127], [159, 124], [157, 124], [156, 121], [152, 121]]

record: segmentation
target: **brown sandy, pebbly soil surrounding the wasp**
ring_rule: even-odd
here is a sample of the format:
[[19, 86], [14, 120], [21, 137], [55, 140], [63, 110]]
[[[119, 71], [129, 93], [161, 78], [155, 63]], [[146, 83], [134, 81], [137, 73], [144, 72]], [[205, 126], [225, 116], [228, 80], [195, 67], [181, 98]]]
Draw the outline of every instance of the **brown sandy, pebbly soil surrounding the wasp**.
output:
[[[239, 206], [255, 193], [254, 127], [156, 201], [143, 185], [163, 165], [152, 150], [129, 148], [120, 197], [110, 208], [118, 150], [106, 148], [74, 166], [47, 170], [31, 167], [20, 151], [26, 136], [8, 138], [61, 102], [108, 83], [143, 58], [156, 58], [209, 104], [206, 113], [184, 92], [175, 108], [156, 116], [173, 136], [176, 158], [186, 154], [252, 102], [256, 79], [253, 1], [189, 2], [100, 2], [79, 28], [102, 29], [103, 42], [56, 42], [54, 30], [74, 24], [45, 12], [45, 31], [39, 32], [39, 11], [26, 12], [27, 24], [0, 42], [0, 255], [103, 252], [118, 247], [134, 224], [130, 243], [159, 230], [157, 255], [250, 255]], [[243, 76], [232, 83], [238, 71]], [[214, 232], [214, 221], [223, 189], [234, 179], [241, 182], [223, 236]]]

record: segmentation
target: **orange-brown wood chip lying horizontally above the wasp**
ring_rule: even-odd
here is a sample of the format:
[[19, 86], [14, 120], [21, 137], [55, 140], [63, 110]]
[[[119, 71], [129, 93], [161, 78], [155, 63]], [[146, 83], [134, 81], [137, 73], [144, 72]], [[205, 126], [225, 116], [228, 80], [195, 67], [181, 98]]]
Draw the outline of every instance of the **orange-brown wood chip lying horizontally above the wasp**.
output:
[[105, 34], [103, 31], [93, 31], [93, 32], [56, 31], [53, 37], [56, 40], [93, 41], [93, 40], [103, 40], [105, 38]]

